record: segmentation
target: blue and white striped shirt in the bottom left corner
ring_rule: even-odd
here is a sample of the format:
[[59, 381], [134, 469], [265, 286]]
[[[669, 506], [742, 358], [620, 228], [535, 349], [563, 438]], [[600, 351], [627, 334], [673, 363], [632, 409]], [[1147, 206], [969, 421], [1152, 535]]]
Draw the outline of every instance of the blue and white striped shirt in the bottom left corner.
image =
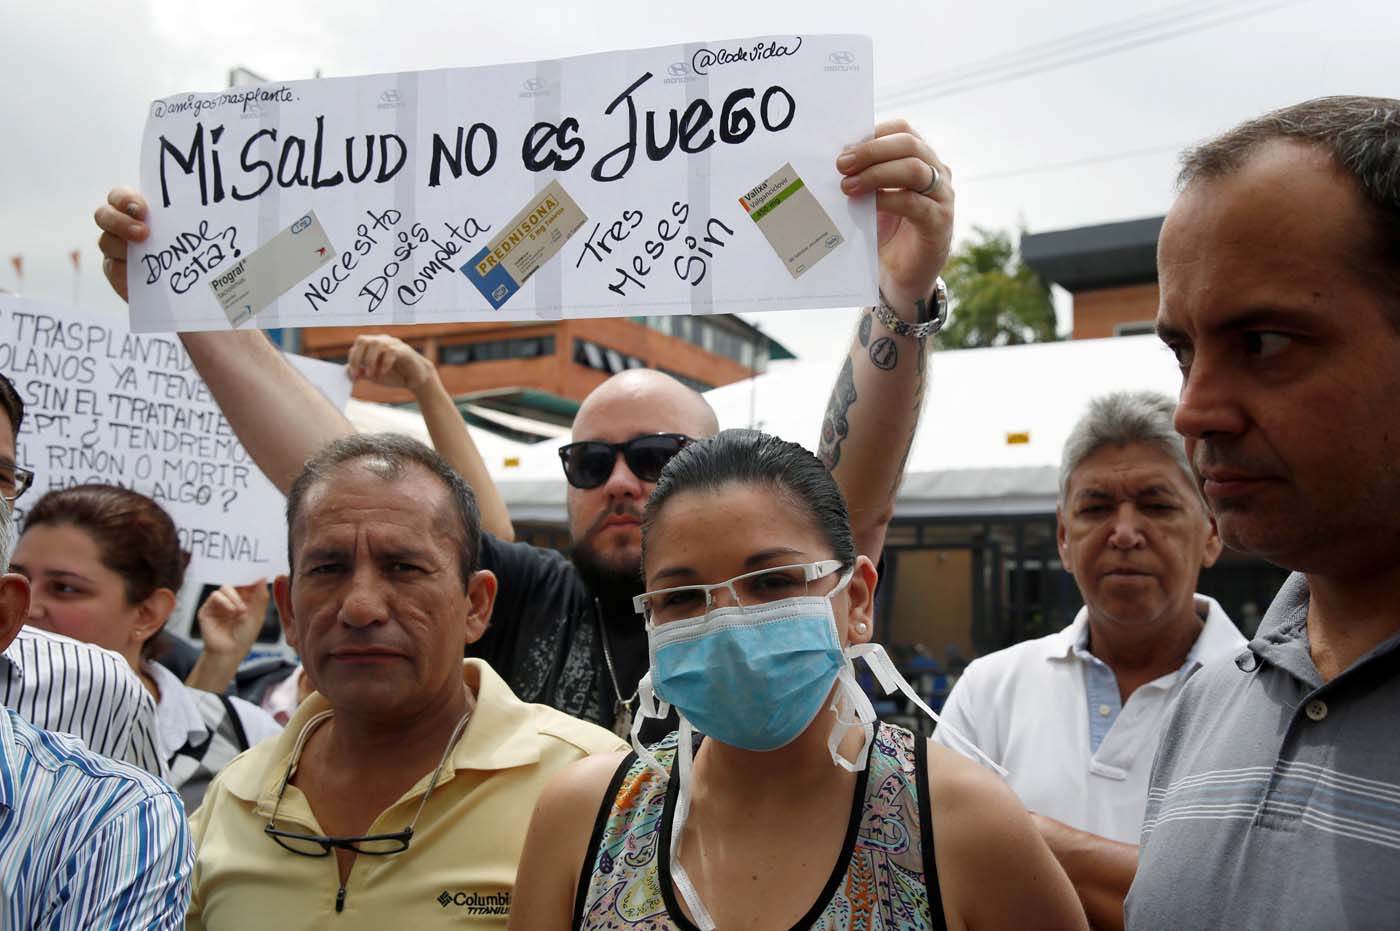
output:
[[181, 928], [193, 860], [175, 790], [0, 710], [0, 927]]

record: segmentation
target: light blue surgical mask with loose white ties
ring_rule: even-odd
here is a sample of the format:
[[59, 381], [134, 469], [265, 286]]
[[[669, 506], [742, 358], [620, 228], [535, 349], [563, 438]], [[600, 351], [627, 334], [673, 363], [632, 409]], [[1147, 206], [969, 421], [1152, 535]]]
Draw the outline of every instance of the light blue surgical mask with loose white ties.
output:
[[[832, 762], [858, 773], [865, 769], [875, 739], [876, 715], [869, 696], [855, 682], [855, 657], [865, 659], [886, 694], [904, 693], [938, 721], [934, 710], [899, 675], [883, 647], [841, 647], [832, 598], [850, 584], [853, 574], [854, 568], [847, 570], [827, 595], [718, 608], [689, 620], [648, 627], [651, 669], [637, 687], [640, 713], [631, 727], [631, 745], [641, 760], [669, 778], [640, 735], [647, 718], [665, 718], [675, 707], [680, 721], [676, 748], [680, 784], [671, 829], [671, 876], [701, 931], [713, 931], [714, 920], [679, 858], [680, 834], [690, 813], [696, 729], [729, 746], [776, 750], [795, 741], [822, 711], [832, 708], [836, 713], [836, 725], [827, 735]], [[832, 696], [830, 703], [827, 696]], [[840, 752], [853, 727], [862, 731], [854, 762]], [[967, 738], [952, 728], [949, 732], [988, 766], [1007, 774]]]

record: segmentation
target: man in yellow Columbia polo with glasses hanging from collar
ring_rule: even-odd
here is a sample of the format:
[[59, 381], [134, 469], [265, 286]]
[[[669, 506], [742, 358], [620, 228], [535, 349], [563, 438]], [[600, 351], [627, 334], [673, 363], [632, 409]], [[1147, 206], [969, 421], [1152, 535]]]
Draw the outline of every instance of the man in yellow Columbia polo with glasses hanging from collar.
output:
[[470, 489], [412, 440], [354, 435], [287, 496], [287, 641], [318, 687], [210, 785], [189, 928], [504, 928], [535, 799], [624, 745], [462, 661], [491, 615]]

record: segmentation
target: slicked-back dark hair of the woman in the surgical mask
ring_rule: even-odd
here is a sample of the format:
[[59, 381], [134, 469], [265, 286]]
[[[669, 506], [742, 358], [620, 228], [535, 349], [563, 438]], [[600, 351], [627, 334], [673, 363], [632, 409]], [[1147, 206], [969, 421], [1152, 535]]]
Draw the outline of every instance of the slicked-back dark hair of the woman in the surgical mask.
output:
[[728, 484], [771, 489], [806, 511], [843, 566], [855, 561], [851, 518], [832, 473], [804, 447], [757, 430], [722, 430], [692, 442], [666, 463], [641, 518], [643, 560], [666, 501], [682, 491], [718, 491]]

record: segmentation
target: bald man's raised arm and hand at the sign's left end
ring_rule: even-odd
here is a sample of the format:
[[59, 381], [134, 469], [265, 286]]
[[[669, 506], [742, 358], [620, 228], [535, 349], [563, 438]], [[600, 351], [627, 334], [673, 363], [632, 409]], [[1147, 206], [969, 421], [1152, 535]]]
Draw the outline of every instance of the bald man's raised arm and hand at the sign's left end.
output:
[[[125, 301], [127, 245], [150, 235], [146, 199], [113, 188], [94, 218], [102, 230], [102, 273]], [[262, 330], [181, 333], [181, 340], [248, 455], [283, 493], [312, 454], [354, 433]]]

